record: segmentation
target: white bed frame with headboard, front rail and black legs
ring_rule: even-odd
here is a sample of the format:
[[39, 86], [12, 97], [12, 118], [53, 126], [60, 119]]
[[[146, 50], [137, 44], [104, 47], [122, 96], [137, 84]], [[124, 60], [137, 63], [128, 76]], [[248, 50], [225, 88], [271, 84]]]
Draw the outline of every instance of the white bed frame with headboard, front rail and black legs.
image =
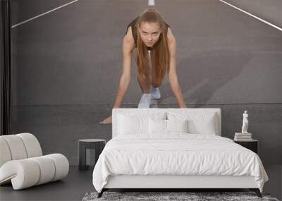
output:
[[[216, 135], [221, 135], [221, 109], [219, 108], [193, 108], [193, 109], [113, 109], [112, 118], [112, 137], [117, 133], [117, 115], [121, 113], [142, 113], [148, 114], [154, 111], [183, 111], [199, 112], [199, 113], [215, 113], [217, 116]], [[98, 197], [101, 197], [103, 192], [109, 189], [163, 189], [165, 191], [187, 190], [187, 189], [238, 189], [248, 188], [255, 191], [258, 197], [262, 197], [254, 176], [179, 176], [179, 175], [118, 175], [110, 176], [108, 183], [104, 185]]]

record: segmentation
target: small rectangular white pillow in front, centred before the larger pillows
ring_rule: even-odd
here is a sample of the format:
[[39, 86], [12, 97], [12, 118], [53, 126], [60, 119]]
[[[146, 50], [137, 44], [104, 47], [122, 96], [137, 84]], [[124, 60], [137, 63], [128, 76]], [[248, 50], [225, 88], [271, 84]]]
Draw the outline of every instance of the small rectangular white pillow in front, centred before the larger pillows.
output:
[[149, 134], [188, 133], [188, 121], [149, 118]]

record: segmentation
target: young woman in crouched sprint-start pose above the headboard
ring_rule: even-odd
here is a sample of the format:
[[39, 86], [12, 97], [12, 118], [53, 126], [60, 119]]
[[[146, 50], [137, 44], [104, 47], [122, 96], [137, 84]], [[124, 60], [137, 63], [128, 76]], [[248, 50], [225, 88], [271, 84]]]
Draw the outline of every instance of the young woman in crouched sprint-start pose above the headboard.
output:
[[[114, 108], [119, 108], [131, 78], [131, 56], [135, 52], [137, 80], [142, 90], [138, 108], [149, 108], [151, 99], [159, 99], [159, 86], [166, 72], [180, 108], [186, 104], [176, 72], [176, 39], [161, 13], [154, 8], [145, 10], [129, 25], [123, 37], [123, 73], [118, 85]], [[109, 116], [100, 123], [112, 123]]]

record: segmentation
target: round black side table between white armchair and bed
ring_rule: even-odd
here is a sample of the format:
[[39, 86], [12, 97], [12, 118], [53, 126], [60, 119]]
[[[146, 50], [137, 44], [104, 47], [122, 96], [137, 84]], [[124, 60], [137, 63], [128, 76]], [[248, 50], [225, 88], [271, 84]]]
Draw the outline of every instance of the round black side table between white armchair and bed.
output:
[[78, 156], [79, 156], [78, 169], [87, 170], [89, 168], [89, 164], [86, 164], [87, 150], [94, 150], [94, 165], [95, 165], [105, 145], [106, 145], [106, 140], [102, 140], [102, 139], [79, 140], [78, 141]]

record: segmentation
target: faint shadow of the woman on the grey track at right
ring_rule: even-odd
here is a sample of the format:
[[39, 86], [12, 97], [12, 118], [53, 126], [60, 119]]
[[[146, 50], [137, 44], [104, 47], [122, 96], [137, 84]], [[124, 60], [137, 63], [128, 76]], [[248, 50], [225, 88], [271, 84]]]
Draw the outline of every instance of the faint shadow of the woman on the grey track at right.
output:
[[[252, 56], [243, 51], [238, 53], [238, 51], [230, 50], [202, 51], [201, 55], [194, 54], [182, 59], [177, 64], [177, 68], [185, 102], [207, 103], [214, 92], [239, 75], [243, 66], [251, 59]], [[174, 97], [169, 83], [161, 88], [163, 97], [160, 104], [165, 103], [164, 99]], [[189, 94], [188, 97], [187, 94]]]

